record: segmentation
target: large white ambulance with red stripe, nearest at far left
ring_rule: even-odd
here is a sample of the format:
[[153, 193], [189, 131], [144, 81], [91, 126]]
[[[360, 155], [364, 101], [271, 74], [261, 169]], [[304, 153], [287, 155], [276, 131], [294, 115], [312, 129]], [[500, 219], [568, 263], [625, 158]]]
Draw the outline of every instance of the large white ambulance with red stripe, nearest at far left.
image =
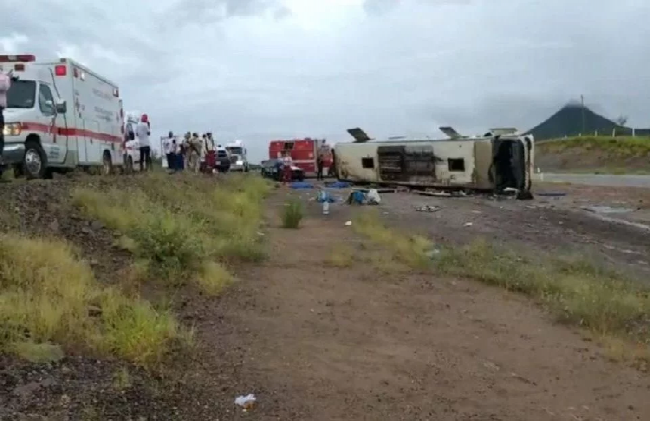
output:
[[124, 163], [124, 113], [115, 83], [73, 60], [0, 55], [17, 77], [4, 111], [5, 164], [27, 178]]

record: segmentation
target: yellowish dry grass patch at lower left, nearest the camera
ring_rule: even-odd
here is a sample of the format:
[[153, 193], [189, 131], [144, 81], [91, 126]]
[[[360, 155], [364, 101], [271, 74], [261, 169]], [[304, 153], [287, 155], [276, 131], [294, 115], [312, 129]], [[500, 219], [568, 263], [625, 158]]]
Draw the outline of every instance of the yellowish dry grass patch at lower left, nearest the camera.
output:
[[68, 244], [0, 238], [0, 351], [35, 362], [74, 351], [152, 366], [188, 339], [170, 314], [99, 285]]

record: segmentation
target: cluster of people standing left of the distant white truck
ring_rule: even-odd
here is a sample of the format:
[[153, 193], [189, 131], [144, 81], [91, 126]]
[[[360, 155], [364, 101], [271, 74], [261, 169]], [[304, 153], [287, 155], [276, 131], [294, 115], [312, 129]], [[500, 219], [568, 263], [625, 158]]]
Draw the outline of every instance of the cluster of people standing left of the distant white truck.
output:
[[206, 159], [210, 151], [214, 150], [212, 133], [185, 133], [182, 139], [177, 139], [173, 132], [169, 132], [163, 140], [163, 153], [167, 157], [170, 171], [183, 171], [186, 168], [192, 172], [201, 170], [201, 161]]

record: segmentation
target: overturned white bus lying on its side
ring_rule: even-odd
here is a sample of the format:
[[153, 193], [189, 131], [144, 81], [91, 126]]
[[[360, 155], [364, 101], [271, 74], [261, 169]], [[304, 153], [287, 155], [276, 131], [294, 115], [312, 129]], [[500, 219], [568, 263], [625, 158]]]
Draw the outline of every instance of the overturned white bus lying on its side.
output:
[[441, 130], [449, 138], [376, 141], [361, 129], [350, 129], [356, 140], [337, 143], [334, 150], [337, 177], [440, 190], [514, 189], [519, 198], [532, 197], [533, 136], [516, 129], [492, 129], [476, 137], [461, 136], [450, 127]]

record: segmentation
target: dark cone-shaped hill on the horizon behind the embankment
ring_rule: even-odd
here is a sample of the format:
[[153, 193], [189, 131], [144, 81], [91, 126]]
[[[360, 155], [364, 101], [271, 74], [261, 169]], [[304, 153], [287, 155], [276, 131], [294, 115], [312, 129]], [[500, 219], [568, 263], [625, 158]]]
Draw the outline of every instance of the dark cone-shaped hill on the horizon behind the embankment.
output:
[[[616, 136], [632, 136], [632, 129], [596, 114], [589, 108], [584, 108], [584, 130], [582, 127], [583, 107], [580, 104], [569, 104], [528, 131], [536, 140], [556, 139], [565, 136], [604, 135], [611, 136], [616, 129]], [[650, 129], [636, 129], [637, 136], [650, 136]]]

